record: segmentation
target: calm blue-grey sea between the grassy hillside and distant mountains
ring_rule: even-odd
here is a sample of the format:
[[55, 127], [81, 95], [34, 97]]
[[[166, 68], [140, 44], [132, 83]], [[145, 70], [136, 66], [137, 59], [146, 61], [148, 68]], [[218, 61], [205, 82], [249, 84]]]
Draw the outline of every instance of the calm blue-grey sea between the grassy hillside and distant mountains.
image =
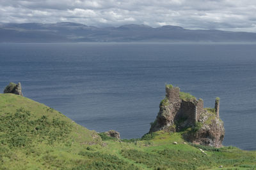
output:
[[147, 133], [177, 85], [214, 107], [220, 97], [224, 145], [256, 150], [256, 45], [173, 43], [0, 44], [0, 90], [24, 96], [98, 132]]

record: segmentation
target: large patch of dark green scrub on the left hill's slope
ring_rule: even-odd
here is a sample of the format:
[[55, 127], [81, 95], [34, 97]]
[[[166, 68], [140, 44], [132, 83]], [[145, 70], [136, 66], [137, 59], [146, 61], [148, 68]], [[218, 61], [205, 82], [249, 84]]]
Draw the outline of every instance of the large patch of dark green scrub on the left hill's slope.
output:
[[0, 143], [10, 147], [29, 146], [31, 141], [65, 141], [71, 131], [70, 124], [45, 115], [40, 118], [31, 116], [30, 111], [19, 108], [14, 114], [6, 113], [0, 117]]

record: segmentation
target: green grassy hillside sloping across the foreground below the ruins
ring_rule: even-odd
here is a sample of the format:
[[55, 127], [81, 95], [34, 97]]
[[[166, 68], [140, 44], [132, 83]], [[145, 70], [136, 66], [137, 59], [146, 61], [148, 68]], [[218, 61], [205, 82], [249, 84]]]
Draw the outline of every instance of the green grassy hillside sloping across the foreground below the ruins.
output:
[[256, 169], [254, 151], [192, 145], [181, 136], [160, 131], [120, 141], [44, 104], [0, 94], [0, 169]]

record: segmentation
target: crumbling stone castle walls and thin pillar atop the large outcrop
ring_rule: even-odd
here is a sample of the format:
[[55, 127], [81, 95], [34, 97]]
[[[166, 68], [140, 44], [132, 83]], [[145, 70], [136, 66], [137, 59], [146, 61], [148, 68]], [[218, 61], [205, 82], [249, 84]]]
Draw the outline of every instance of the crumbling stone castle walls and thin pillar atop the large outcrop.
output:
[[[204, 101], [202, 99], [196, 100], [181, 99], [179, 87], [172, 87], [166, 85], [166, 103], [160, 104], [160, 111], [157, 115], [156, 121], [152, 124], [150, 132], [156, 132], [159, 130], [167, 131], [179, 131], [184, 127], [191, 127], [198, 122], [200, 115], [204, 114]], [[219, 118], [220, 110], [220, 98], [216, 98], [215, 102], [215, 113], [216, 117]], [[177, 125], [179, 122], [180, 127], [172, 129], [173, 125]]]

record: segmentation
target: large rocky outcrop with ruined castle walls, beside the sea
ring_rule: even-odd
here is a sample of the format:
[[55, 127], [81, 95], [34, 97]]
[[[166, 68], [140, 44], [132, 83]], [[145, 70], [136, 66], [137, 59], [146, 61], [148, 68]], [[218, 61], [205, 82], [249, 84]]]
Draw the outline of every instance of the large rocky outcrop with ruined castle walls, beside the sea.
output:
[[219, 118], [220, 98], [216, 98], [215, 109], [204, 108], [202, 99], [166, 85], [166, 97], [159, 108], [149, 132], [183, 132], [184, 139], [191, 143], [222, 146], [225, 129]]

